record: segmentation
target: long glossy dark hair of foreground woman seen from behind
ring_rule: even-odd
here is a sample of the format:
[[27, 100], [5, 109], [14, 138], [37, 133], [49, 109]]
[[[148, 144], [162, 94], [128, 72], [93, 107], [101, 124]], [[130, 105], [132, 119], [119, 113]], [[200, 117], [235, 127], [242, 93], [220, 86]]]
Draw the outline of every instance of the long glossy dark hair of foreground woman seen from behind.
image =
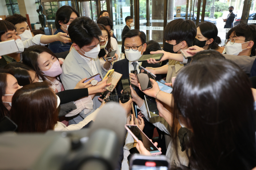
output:
[[[183, 117], [193, 135], [186, 144], [197, 170], [251, 170], [256, 166], [256, 120], [251, 84], [235, 64], [201, 59], [178, 74], [173, 87], [172, 137]], [[176, 152], [177, 153], [177, 152]]]

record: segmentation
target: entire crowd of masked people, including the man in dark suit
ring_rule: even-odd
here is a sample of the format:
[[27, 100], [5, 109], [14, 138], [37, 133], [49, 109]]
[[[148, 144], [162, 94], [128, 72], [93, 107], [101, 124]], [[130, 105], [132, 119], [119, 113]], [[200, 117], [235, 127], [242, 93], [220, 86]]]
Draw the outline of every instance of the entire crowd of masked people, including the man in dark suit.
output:
[[[96, 74], [103, 79], [114, 69], [131, 83], [132, 98], [119, 102], [127, 113], [126, 124], [135, 123], [131, 104], [136, 104], [138, 127], [149, 139], [157, 131], [155, 144], [171, 168], [256, 167], [255, 25], [240, 23], [231, 28], [221, 47], [213, 23], [196, 26], [191, 20], [176, 19], [166, 25], [161, 49], [156, 41], [146, 42], [143, 31], [131, 29], [133, 18], [128, 16], [120, 53], [108, 12], [100, 16], [96, 23], [62, 6], [56, 12], [54, 35], [30, 30], [19, 14], [0, 20], [0, 41], [14, 39], [19, 49], [0, 59], [0, 119], [9, 117], [18, 125], [18, 133], [87, 128], [106, 105], [100, 96], [111, 83], [108, 78], [95, 86], [93, 79], [84, 81]], [[193, 56], [184, 57], [181, 49]], [[115, 56], [107, 60], [114, 50]], [[164, 54], [160, 61], [138, 62], [142, 55], [158, 53]], [[153, 79], [152, 88], [141, 90], [132, 73], [143, 72], [140, 66], [155, 74], [156, 80], [164, 79], [173, 88], [172, 94], [161, 91]], [[123, 93], [120, 83], [116, 90]], [[158, 117], [149, 117], [144, 95], [156, 99]], [[128, 169], [133, 153], [151, 155], [129, 133], [123, 151], [117, 169]]]

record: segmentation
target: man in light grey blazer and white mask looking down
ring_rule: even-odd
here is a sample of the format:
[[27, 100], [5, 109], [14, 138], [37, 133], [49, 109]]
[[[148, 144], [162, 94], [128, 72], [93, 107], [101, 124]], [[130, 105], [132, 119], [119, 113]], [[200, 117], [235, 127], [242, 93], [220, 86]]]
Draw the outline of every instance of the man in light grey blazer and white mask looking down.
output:
[[[100, 51], [100, 35], [102, 34], [97, 23], [88, 17], [80, 17], [74, 20], [68, 27], [68, 33], [73, 42], [73, 48], [62, 64], [60, 78], [65, 90], [73, 89], [83, 78], [90, 78], [100, 74], [102, 79], [106, 75], [106, 69], [102, 69], [98, 58]], [[70, 117], [69, 124], [77, 124], [87, 115], [94, 112], [101, 103], [99, 94], [88, 96], [88, 106], [78, 115]]]

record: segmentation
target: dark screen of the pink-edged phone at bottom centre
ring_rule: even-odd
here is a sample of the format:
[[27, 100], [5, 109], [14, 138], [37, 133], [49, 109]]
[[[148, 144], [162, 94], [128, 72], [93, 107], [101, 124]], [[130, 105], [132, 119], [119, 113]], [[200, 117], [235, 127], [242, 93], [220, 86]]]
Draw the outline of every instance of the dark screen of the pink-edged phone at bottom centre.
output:
[[146, 137], [146, 135], [140, 131], [138, 126], [130, 126], [126, 125], [128, 129], [138, 138], [138, 140], [142, 141], [144, 147], [150, 152], [150, 153], [156, 153], [159, 152], [159, 150], [155, 147], [155, 145]]

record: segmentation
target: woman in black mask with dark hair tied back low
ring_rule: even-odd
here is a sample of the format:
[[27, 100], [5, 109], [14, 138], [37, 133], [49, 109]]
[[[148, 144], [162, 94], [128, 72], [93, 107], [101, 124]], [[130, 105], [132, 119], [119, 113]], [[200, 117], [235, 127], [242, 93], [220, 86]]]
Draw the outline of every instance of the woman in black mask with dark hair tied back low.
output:
[[202, 22], [197, 27], [196, 38], [193, 41], [193, 46], [201, 47], [205, 50], [213, 49], [220, 53], [224, 47], [220, 47], [220, 37], [218, 37], [218, 29], [211, 22]]

